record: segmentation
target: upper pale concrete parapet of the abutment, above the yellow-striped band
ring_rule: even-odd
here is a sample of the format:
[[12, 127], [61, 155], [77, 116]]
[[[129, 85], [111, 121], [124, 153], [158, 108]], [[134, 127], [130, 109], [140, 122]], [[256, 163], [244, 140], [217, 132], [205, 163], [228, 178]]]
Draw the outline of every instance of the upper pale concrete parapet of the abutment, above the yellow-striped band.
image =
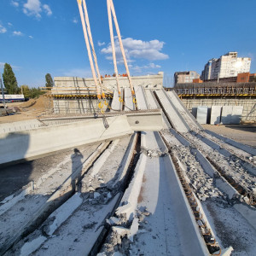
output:
[[[163, 87], [163, 78], [164, 73], [160, 72], [156, 75], [147, 75], [140, 77], [131, 77], [132, 84], [134, 86], [143, 85], [145, 88], [162, 88]], [[103, 86], [107, 87], [108, 90], [117, 89], [116, 79], [114, 77], [111, 78], [103, 78], [102, 79]], [[119, 84], [122, 88], [130, 87], [129, 81], [127, 77], [119, 77]], [[84, 87], [84, 86], [94, 86], [95, 83], [93, 79], [81, 79], [74, 77], [55, 77], [55, 87]]]

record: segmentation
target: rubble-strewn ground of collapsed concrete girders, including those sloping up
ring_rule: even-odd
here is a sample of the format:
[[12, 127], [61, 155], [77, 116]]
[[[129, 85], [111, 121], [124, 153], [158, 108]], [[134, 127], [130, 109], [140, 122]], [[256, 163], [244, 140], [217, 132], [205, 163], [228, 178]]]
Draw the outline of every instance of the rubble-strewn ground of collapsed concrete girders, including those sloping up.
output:
[[162, 130], [1, 166], [0, 254], [255, 255], [254, 127], [204, 130], [175, 93], [141, 94]]

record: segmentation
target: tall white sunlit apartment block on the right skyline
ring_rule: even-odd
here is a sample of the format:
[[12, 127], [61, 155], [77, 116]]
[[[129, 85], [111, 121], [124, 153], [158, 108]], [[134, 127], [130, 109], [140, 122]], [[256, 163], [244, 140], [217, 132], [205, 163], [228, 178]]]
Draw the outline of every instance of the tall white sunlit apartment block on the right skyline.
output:
[[207, 62], [201, 73], [201, 79], [222, 79], [236, 77], [238, 73], [250, 72], [251, 58], [237, 57], [236, 51], [221, 55], [218, 59]]

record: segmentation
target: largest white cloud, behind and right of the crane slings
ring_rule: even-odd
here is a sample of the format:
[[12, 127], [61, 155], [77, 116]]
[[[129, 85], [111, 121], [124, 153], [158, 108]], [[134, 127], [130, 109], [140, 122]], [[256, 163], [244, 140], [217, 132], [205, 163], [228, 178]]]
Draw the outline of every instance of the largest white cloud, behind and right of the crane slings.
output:
[[[159, 40], [151, 40], [151, 41], [142, 41], [133, 38], [125, 38], [122, 40], [125, 48], [125, 55], [127, 59], [136, 58], [136, 59], [146, 59], [149, 61], [157, 61], [157, 60], [166, 60], [169, 58], [168, 55], [160, 52], [164, 47], [164, 42], [160, 42]], [[114, 41], [115, 50], [117, 59], [120, 60], [121, 50], [119, 48], [119, 41], [115, 38]], [[109, 55], [112, 54], [111, 44], [108, 44], [108, 47], [102, 49], [102, 54], [106, 54], [107, 59], [109, 59]]]

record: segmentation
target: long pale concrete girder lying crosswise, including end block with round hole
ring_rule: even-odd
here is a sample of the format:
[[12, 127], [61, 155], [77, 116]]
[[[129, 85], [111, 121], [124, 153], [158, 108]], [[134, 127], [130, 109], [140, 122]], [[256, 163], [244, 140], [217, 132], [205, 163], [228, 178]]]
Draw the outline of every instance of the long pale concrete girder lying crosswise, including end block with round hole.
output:
[[54, 152], [132, 134], [134, 131], [160, 131], [161, 111], [131, 112], [105, 118], [83, 117], [44, 119], [51, 126], [30, 131], [0, 134], [0, 165], [33, 160]]

